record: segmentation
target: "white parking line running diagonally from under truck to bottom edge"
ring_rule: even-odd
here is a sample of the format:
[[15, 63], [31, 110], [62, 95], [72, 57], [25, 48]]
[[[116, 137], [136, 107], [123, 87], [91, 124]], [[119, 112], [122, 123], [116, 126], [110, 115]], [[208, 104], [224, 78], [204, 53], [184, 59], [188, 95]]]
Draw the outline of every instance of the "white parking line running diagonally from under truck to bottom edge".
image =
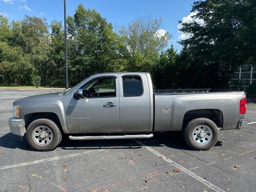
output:
[[217, 186], [215, 186], [214, 184], [204, 180], [203, 178], [201, 178], [200, 176], [194, 174], [193, 172], [191, 172], [190, 170], [187, 170], [186, 168], [182, 167], [181, 165], [179, 165], [178, 163], [168, 159], [166, 156], [163, 156], [162, 154], [158, 153], [157, 151], [155, 151], [154, 149], [150, 148], [149, 146], [146, 146], [144, 143], [133, 139], [135, 142], [137, 142], [138, 144], [140, 144], [141, 146], [144, 146], [147, 150], [149, 150], [150, 152], [156, 154], [159, 157], [162, 157], [163, 160], [167, 161], [168, 163], [172, 164], [173, 166], [175, 166], [176, 168], [178, 168], [179, 170], [182, 170], [184, 173], [188, 174], [189, 176], [192, 176], [193, 178], [195, 178], [196, 180], [200, 181], [201, 183], [205, 184], [206, 186], [210, 187], [211, 189], [213, 189], [216, 192], [224, 192], [222, 189], [218, 188]]

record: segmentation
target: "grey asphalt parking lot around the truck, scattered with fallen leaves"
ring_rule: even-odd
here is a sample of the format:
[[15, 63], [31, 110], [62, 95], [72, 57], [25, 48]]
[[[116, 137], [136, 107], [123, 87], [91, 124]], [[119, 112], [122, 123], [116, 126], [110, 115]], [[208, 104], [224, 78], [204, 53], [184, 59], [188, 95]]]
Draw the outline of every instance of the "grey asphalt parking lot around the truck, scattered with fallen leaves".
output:
[[[256, 123], [220, 131], [216, 146], [191, 150], [179, 132], [140, 140], [64, 142], [36, 152], [10, 133], [12, 103], [57, 90], [0, 89], [0, 191], [223, 192], [255, 191]], [[246, 117], [256, 122], [256, 98]], [[176, 170], [176, 172], [174, 171]]]

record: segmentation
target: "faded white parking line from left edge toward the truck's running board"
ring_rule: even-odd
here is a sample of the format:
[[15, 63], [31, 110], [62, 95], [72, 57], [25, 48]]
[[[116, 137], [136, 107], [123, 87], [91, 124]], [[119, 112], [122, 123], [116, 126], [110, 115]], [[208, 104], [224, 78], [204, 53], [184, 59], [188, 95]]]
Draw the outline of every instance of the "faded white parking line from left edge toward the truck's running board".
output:
[[32, 164], [37, 164], [37, 163], [44, 163], [44, 162], [60, 160], [60, 159], [66, 159], [66, 158], [76, 157], [76, 156], [80, 156], [85, 153], [91, 153], [91, 152], [96, 152], [96, 151], [104, 151], [104, 149], [96, 149], [96, 150], [85, 151], [85, 152], [81, 152], [81, 153], [75, 153], [75, 154], [70, 154], [70, 155], [52, 157], [52, 158], [48, 158], [48, 159], [36, 160], [36, 161], [32, 161], [32, 162], [25, 162], [25, 163], [13, 164], [13, 165], [1, 166], [0, 170], [14, 168], [14, 167], [20, 167], [20, 166], [26, 166], [26, 165], [32, 165]]

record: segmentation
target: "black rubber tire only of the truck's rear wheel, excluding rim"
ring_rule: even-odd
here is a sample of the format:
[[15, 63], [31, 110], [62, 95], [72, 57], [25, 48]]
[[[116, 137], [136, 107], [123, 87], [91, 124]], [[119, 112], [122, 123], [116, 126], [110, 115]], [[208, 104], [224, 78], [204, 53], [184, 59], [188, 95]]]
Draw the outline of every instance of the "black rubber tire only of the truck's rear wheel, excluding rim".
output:
[[[193, 131], [197, 126], [205, 125], [212, 130], [212, 139], [206, 144], [198, 144], [193, 140]], [[218, 141], [219, 130], [216, 124], [207, 118], [196, 118], [188, 122], [187, 126], [183, 129], [183, 138], [186, 143], [194, 150], [209, 150]]]

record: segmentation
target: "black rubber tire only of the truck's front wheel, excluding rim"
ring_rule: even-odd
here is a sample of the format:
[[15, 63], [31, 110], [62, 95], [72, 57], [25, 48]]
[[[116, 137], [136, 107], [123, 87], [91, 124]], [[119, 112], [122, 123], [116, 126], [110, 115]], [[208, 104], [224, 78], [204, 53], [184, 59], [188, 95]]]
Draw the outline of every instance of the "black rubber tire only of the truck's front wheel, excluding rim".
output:
[[[52, 140], [49, 144], [47, 144], [45, 146], [39, 145], [33, 140], [33, 131], [34, 131], [34, 129], [36, 129], [39, 126], [46, 126], [52, 130]], [[55, 122], [53, 122], [50, 119], [41, 118], [41, 119], [34, 120], [28, 126], [28, 129], [26, 131], [26, 139], [27, 139], [28, 144], [34, 150], [50, 151], [50, 150], [53, 150], [54, 148], [56, 148], [60, 144], [60, 142], [62, 140], [62, 133]]]

